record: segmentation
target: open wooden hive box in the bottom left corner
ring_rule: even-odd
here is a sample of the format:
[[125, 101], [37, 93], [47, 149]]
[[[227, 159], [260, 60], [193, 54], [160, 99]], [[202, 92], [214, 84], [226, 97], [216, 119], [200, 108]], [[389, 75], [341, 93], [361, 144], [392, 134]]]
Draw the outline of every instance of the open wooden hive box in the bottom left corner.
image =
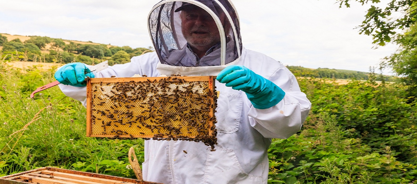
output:
[[106, 174], [41, 167], [0, 177], [0, 184], [160, 184]]

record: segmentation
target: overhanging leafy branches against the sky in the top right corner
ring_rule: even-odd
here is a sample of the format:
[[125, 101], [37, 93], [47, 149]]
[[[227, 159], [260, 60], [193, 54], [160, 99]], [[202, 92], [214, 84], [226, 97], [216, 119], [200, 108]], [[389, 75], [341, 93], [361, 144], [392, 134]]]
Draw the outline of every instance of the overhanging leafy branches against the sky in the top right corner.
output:
[[[362, 5], [369, 2], [379, 3], [380, 0], [336, 0], [339, 7], [350, 7], [350, 3], [360, 2]], [[384, 46], [397, 34], [397, 30], [403, 30], [413, 25], [417, 20], [417, 0], [391, 0], [385, 8], [372, 5], [362, 25], [359, 25], [359, 34], [372, 35], [375, 44]], [[401, 12], [399, 18], [392, 13]]]

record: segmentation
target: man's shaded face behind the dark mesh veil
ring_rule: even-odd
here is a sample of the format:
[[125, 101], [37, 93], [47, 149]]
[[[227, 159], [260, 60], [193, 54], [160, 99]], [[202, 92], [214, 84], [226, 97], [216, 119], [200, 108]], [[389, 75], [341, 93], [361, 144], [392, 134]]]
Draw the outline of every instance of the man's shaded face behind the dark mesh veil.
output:
[[213, 17], [197, 6], [181, 11], [182, 33], [191, 47], [208, 50], [220, 42], [219, 29]]

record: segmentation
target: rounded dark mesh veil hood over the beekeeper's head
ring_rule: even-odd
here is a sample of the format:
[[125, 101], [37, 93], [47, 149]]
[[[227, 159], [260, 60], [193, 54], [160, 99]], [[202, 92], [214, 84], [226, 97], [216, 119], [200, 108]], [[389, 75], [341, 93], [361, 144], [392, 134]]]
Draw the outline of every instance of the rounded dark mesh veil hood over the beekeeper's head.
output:
[[[224, 32], [224, 36], [217, 36], [220, 36], [219, 40], [204, 41], [210, 48], [201, 58], [194, 54], [190, 36], [184, 36], [184, 32], [185, 35], [190, 35], [188, 32], [191, 32], [191, 28], [186, 27], [188, 23], [183, 23], [188, 17], [181, 15], [186, 14], [187, 7], [198, 7], [198, 11], [208, 12], [209, 18], [216, 21], [214, 29], [219, 29], [216, 35]], [[210, 32], [204, 26], [206, 25], [201, 25], [203, 33]], [[229, 0], [162, 0], [149, 13], [148, 28], [162, 64], [218, 66], [236, 60], [241, 54], [239, 18]]]

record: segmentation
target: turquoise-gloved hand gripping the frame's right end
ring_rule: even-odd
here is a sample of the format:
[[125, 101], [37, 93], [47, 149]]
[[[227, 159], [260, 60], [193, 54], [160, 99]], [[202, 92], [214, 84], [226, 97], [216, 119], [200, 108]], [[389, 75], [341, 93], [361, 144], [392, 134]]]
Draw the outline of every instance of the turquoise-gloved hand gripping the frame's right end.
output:
[[285, 92], [276, 84], [255, 74], [245, 66], [228, 66], [217, 75], [216, 79], [221, 83], [226, 83], [228, 87], [244, 91], [257, 109], [270, 108], [279, 103], [285, 95]]

